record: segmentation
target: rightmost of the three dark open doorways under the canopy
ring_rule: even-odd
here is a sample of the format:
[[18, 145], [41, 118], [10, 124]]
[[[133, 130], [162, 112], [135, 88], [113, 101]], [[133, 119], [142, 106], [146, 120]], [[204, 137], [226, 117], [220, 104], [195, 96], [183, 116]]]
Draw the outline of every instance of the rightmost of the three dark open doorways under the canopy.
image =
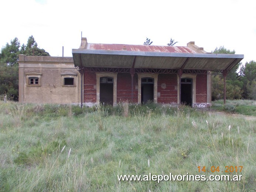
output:
[[181, 104], [192, 107], [192, 79], [181, 79]]

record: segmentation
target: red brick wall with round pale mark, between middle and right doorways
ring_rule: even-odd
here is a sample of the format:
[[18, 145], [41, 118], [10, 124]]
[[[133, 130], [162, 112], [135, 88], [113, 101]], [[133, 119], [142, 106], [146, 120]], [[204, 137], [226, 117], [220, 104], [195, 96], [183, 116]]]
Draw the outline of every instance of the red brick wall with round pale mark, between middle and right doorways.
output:
[[157, 83], [157, 103], [177, 103], [177, 74], [159, 74]]

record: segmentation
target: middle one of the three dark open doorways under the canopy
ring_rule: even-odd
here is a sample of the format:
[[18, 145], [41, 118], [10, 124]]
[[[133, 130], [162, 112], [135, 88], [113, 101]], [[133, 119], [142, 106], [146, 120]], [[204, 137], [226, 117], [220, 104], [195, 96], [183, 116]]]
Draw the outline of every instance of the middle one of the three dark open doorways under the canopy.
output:
[[154, 101], [154, 79], [142, 78], [141, 79], [141, 103]]

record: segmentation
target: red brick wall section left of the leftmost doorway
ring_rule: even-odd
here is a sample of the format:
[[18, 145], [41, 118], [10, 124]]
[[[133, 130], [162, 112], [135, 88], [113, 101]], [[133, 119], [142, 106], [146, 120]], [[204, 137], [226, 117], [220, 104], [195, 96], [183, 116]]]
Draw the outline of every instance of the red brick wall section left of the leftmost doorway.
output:
[[96, 103], [96, 73], [85, 71], [83, 74], [83, 101]]

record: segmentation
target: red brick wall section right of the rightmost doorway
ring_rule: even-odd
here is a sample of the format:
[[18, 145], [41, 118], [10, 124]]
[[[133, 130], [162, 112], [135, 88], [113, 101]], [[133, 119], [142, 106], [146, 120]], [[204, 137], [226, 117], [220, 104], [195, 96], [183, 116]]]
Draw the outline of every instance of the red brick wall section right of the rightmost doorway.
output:
[[197, 75], [196, 103], [207, 102], [207, 75]]

